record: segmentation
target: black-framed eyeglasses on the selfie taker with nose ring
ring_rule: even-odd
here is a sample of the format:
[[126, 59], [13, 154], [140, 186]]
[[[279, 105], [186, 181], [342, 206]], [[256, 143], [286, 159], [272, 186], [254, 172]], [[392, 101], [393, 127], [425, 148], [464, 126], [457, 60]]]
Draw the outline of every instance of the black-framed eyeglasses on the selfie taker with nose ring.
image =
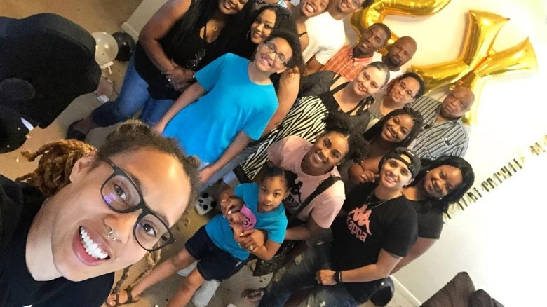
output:
[[104, 203], [110, 210], [118, 213], [142, 210], [135, 226], [133, 226], [133, 236], [137, 243], [144, 250], [153, 252], [175, 242], [168, 224], [147, 207], [142, 193], [133, 179], [109, 158], [101, 155], [100, 158], [108, 163], [113, 170], [112, 175], [104, 180], [101, 186], [101, 196]]

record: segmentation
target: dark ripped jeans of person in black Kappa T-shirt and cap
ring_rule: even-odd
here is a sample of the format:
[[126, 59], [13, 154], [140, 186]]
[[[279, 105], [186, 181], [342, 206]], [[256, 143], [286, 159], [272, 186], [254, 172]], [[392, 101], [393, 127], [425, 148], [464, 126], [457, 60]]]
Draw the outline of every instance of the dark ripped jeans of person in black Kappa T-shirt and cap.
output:
[[311, 290], [311, 294], [299, 304], [302, 306], [356, 307], [359, 303], [353, 299], [344, 285], [318, 285], [316, 273], [330, 268], [330, 243], [318, 244], [306, 250], [302, 256], [274, 273], [266, 287], [259, 307], [282, 307], [294, 292]]

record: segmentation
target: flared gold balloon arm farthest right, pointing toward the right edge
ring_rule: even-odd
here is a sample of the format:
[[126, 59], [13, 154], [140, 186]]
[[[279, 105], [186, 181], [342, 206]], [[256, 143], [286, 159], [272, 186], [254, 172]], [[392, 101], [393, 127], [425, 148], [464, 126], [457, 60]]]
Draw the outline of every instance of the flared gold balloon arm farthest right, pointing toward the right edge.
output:
[[[475, 95], [482, 92], [484, 83], [499, 74], [507, 74], [521, 71], [537, 71], [537, 59], [532, 43], [526, 38], [517, 45], [502, 51], [489, 50], [488, 56], [478, 64], [473, 71], [466, 74], [451, 87], [463, 86], [473, 90]], [[475, 125], [477, 123], [478, 101], [473, 104], [462, 118], [464, 123]]]

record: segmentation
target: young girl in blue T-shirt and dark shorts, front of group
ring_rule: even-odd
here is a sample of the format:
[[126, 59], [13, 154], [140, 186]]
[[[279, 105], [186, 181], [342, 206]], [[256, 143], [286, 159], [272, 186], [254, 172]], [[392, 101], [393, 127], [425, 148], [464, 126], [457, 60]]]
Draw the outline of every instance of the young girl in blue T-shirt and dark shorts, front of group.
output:
[[[230, 278], [245, 265], [251, 253], [266, 260], [274, 257], [285, 238], [287, 217], [281, 200], [288, 196], [290, 186], [290, 176], [281, 168], [271, 166], [266, 168], [259, 184], [239, 184], [233, 191], [223, 191], [220, 194], [222, 215], [202, 226], [183, 250], [154, 268], [133, 289], [121, 292], [118, 301], [134, 302], [151, 285], [200, 260], [168, 303], [168, 307], [186, 306], [205, 280]], [[238, 239], [243, 231], [251, 228], [266, 231], [267, 240], [262, 246], [245, 250]], [[111, 295], [108, 302], [115, 300], [116, 296]]]

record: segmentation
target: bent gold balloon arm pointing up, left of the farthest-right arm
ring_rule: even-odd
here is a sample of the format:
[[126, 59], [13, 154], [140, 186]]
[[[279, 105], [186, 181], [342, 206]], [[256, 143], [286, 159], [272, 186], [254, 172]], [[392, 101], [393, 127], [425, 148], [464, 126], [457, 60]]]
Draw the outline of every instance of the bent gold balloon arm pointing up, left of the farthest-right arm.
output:
[[457, 82], [473, 71], [475, 65], [483, 61], [488, 50], [492, 49], [499, 30], [507, 21], [508, 18], [494, 13], [469, 11], [464, 46], [456, 60], [426, 66], [412, 66], [412, 71], [424, 79], [426, 93]]

